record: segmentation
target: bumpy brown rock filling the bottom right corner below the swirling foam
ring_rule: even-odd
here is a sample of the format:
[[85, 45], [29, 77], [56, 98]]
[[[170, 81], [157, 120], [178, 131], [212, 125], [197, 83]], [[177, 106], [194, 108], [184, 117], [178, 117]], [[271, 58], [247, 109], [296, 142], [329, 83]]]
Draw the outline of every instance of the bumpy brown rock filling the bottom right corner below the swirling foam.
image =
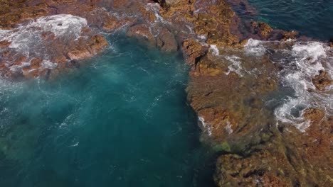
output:
[[[306, 134], [298, 130], [275, 130], [269, 141], [251, 147], [250, 154], [224, 154], [216, 165], [218, 186], [331, 186], [333, 160], [332, 119], [311, 108], [305, 118], [312, 125]], [[326, 166], [325, 166], [326, 165]]]

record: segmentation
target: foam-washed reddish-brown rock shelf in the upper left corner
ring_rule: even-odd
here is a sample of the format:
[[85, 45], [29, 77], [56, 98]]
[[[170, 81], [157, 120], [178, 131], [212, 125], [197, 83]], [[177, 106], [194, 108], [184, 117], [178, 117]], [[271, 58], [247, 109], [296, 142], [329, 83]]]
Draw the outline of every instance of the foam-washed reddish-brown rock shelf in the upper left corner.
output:
[[[78, 67], [76, 60], [93, 57], [108, 45], [98, 30], [112, 33], [134, 21], [112, 15], [98, 7], [98, 1], [22, 0], [1, 4], [0, 36], [5, 40], [0, 41], [0, 74], [7, 79], [48, 79]], [[24, 44], [24, 38], [27, 42], [36, 40], [36, 44]], [[39, 66], [34, 59], [42, 60]]]

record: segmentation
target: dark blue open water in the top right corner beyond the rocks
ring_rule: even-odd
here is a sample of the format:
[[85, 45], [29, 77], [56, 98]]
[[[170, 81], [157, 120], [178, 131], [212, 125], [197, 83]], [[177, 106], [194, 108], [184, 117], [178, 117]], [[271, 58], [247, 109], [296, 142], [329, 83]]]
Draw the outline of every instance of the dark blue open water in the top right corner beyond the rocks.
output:
[[259, 21], [282, 30], [297, 30], [320, 40], [333, 39], [332, 0], [248, 0]]

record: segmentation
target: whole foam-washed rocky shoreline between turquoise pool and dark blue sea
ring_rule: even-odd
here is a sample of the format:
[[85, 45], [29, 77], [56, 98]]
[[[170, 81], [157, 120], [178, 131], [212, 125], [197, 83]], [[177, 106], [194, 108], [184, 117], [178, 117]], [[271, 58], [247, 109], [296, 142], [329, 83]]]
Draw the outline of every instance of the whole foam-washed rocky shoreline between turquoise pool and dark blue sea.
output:
[[[290, 117], [274, 103], [285, 82], [296, 75], [301, 76], [299, 81], [307, 76], [307, 88], [300, 89], [306, 101], [332, 94], [329, 44], [309, 44], [310, 39], [297, 32], [243, 21], [233, 6], [253, 9], [241, 0], [4, 4], [0, 9], [0, 36], [5, 38], [0, 41], [2, 77], [51, 79], [102, 52], [108, 44], [101, 31], [125, 28], [128, 37], [146, 45], [184, 54], [191, 67], [186, 91], [199, 116], [201, 140], [221, 154], [214, 176], [217, 186], [333, 185], [332, 106], [320, 106], [325, 100], [314, 101], [319, 106], [309, 104]], [[73, 26], [78, 33], [68, 33]], [[41, 42], [25, 45], [23, 39], [29, 37]], [[308, 55], [307, 45], [322, 49], [324, 55]], [[282, 57], [290, 61], [284, 64]]]

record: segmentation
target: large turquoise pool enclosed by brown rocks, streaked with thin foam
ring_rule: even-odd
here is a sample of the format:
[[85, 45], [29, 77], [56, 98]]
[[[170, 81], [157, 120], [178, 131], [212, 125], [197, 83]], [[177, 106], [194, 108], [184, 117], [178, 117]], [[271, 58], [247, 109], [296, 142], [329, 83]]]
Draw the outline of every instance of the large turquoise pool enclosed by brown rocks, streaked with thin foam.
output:
[[210, 186], [179, 55], [110, 38], [50, 81], [1, 81], [0, 186]]

